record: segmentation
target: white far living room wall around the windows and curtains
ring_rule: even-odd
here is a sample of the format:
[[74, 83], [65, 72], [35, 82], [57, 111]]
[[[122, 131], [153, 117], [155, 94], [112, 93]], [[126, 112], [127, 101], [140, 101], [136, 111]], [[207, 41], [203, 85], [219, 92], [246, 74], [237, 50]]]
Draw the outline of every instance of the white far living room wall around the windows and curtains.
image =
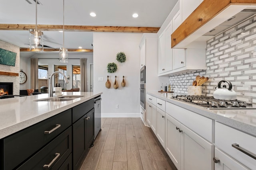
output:
[[[22, 55], [21, 55], [22, 56]], [[55, 59], [49, 59], [48, 57], [54, 57]], [[54, 72], [54, 64], [66, 65], [67, 66], [67, 75], [70, 75], [69, 83], [66, 84], [67, 89], [72, 88], [72, 65], [80, 65], [80, 58], [87, 58], [87, 91], [90, 91], [90, 64], [93, 63], [92, 53], [69, 53], [68, 54], [68, 63], [60, 63], [58, 60], [58, 53], [48, 54], [48, 53], [38, 53], [38, 55], [33, 56], [32, 58], [38, 58], [38, 64], [48, 64], [48, 74]], [[72, 58], [70, 58], [72, 57]], [[20, 85], [20, 90], [30, 89], [30, 58], [22, 58], [20, 60], [20, 68], [26, 72], [28, 80], [25, 84]]]

